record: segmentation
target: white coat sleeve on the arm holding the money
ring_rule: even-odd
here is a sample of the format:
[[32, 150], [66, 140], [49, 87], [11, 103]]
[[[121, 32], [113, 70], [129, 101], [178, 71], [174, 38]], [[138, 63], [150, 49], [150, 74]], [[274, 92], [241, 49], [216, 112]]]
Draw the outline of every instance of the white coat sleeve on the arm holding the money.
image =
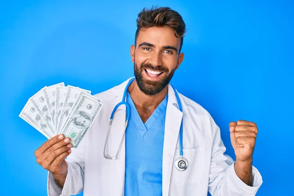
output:
[[85, 167], [85, 144], [83, 138], [79, 146], [67, 157], [68, 172], [63, 189], [54, 181], [51, 172], [48, 172], [47, 192], [48, 196], [71, 196], [79, 194], [83, 190]]

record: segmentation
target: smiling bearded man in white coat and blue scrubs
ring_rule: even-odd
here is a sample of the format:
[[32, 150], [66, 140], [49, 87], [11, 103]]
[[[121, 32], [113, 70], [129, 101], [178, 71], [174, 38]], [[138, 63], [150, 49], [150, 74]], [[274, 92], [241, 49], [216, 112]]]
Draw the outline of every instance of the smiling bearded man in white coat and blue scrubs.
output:
[[[130, 119], [125, 136], [124, 106], [115, 114], [109, 135], [107, 130], [129, 79], [96, 95], [104, 106], [78, 148], [71, 149], [69, 138], [57, 135], [35, 151], [37, 162], [49, 170], [49, 196], [82, 190], [84, 196], [206, 196], [207, 191], [212, 196], [254, 196], [262, 184], [252, 166], [256, 124], [229, 124], [234, 162], [224, 154], [220, 129], [209, 113], [181, 94], [177, 100], [169, 85], [184, 59], [182, 17], [166, 7], [143, 9], [137, 26], [130, 49], [135, 80], [126, 93]], [[188, 161], [184, 171], [178, 169], [185, 164], [176, 161], [181, 122], [183, 158]], [[114, 157], [119, 148], [117, 158], [103, 156], [105, 150]]]

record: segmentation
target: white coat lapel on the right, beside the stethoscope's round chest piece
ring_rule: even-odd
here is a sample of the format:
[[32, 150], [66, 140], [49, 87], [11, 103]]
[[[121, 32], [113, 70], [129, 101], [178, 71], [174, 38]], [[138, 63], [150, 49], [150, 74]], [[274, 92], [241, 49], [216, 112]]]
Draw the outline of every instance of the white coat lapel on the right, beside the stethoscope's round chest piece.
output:
[[183, 113], [178, 109], [178, 103], [171, 85], [169, 85], [168, 87], [168, 95], [169, 100], [166, 112], [162, 161], [163, 196], [169, 195], [171, 173], [172, 167], [174, 165], [174, 152], [178, 141], [180, 125], [183, 117]]

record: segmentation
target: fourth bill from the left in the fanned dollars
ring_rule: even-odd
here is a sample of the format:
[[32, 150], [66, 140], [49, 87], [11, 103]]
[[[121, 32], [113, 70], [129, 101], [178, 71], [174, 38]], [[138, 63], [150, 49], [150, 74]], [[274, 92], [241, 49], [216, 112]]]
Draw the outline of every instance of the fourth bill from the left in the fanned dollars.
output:
[[61, 112], [63, 108], [63, 102], [67, 93], [67, 86], [57, 86], [56, 87], [56, 101], [55, 101], [55, 131], [57, 134], [57, 127], [60, 121]]

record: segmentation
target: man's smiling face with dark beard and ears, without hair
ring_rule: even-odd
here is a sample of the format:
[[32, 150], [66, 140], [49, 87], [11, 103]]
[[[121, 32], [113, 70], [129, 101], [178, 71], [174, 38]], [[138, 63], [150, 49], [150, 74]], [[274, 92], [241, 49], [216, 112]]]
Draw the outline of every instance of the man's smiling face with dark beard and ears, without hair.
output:
[[136, 47], [131, 47], [134, 73], [140, 90], [146, 95], [155, 95], [171, 81], [174, 71], [183, 61], [179, 53], [180, 38], [173, 28], [149, 27], [141, 29]]

